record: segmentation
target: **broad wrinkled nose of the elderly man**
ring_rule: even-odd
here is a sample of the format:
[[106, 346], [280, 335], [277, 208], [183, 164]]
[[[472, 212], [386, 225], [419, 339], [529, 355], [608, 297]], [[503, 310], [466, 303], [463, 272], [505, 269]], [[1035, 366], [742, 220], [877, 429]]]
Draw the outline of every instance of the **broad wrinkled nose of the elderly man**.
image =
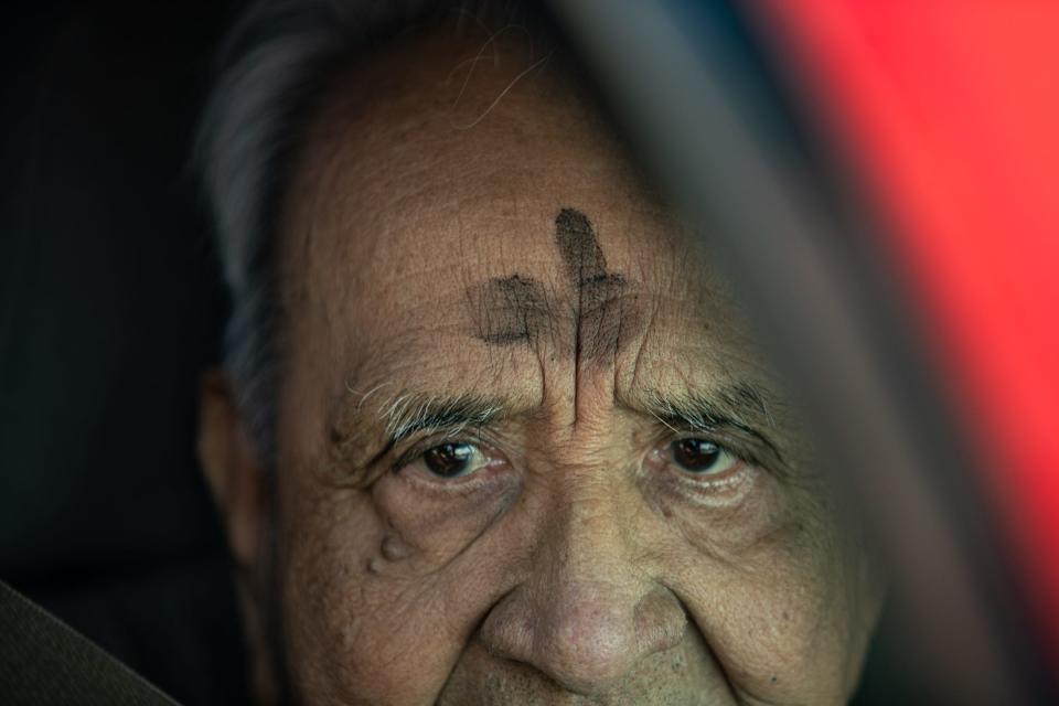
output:
[[590, 695], [676, 645], [687, 623], [684, 609], [635, 566], [622, 520], [607, 499], [550, 513], [528, 578], [482, 624], [486, 649]]

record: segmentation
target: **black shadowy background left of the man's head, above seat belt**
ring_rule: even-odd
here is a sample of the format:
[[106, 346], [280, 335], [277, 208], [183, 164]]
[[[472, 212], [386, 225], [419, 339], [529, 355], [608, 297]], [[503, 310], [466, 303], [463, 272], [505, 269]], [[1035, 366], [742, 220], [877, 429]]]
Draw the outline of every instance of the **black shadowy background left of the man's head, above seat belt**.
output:
[[6, 3], [0, 580], [188, 704], [244, 697], [194, 458], [226, 301], [191, 145], [232, 2]]

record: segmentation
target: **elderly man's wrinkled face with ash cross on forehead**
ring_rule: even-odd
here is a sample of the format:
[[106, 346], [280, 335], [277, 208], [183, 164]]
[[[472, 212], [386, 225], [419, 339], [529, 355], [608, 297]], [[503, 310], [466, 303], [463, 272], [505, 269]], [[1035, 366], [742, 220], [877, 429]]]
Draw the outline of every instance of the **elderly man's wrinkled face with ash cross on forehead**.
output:
[[723, 272], [571, 84], [479, 49], [397, 45], [314, 125], [274, 511], [204, 435], [291, 689], [844, 703], [878, 590]]

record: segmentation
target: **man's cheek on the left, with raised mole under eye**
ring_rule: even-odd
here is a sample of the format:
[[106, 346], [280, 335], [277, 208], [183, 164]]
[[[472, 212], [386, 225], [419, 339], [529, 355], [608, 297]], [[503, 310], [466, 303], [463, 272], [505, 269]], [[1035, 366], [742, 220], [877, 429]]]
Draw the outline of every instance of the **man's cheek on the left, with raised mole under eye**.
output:
[[281, 489], [299, 499], [282, 509], [280, 571], [302, 700], [431, 702], [505, 590], [482, 537], [512, 493], [437, 498], [393, 473], [368, 491]]

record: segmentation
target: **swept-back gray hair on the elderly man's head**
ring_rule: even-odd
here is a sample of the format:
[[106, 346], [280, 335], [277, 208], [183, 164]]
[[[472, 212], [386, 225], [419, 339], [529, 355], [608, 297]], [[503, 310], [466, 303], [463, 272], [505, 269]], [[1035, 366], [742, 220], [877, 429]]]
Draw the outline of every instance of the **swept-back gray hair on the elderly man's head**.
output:
[[199, 157], [232, 298], [225, 368], [261, 460], [274, 459], [281, 365], [276, 224], [287, 173], [328, 83], [361, 52], [413, 25], [525, 22], [502, 0], [259, 0], [221, 53]]

